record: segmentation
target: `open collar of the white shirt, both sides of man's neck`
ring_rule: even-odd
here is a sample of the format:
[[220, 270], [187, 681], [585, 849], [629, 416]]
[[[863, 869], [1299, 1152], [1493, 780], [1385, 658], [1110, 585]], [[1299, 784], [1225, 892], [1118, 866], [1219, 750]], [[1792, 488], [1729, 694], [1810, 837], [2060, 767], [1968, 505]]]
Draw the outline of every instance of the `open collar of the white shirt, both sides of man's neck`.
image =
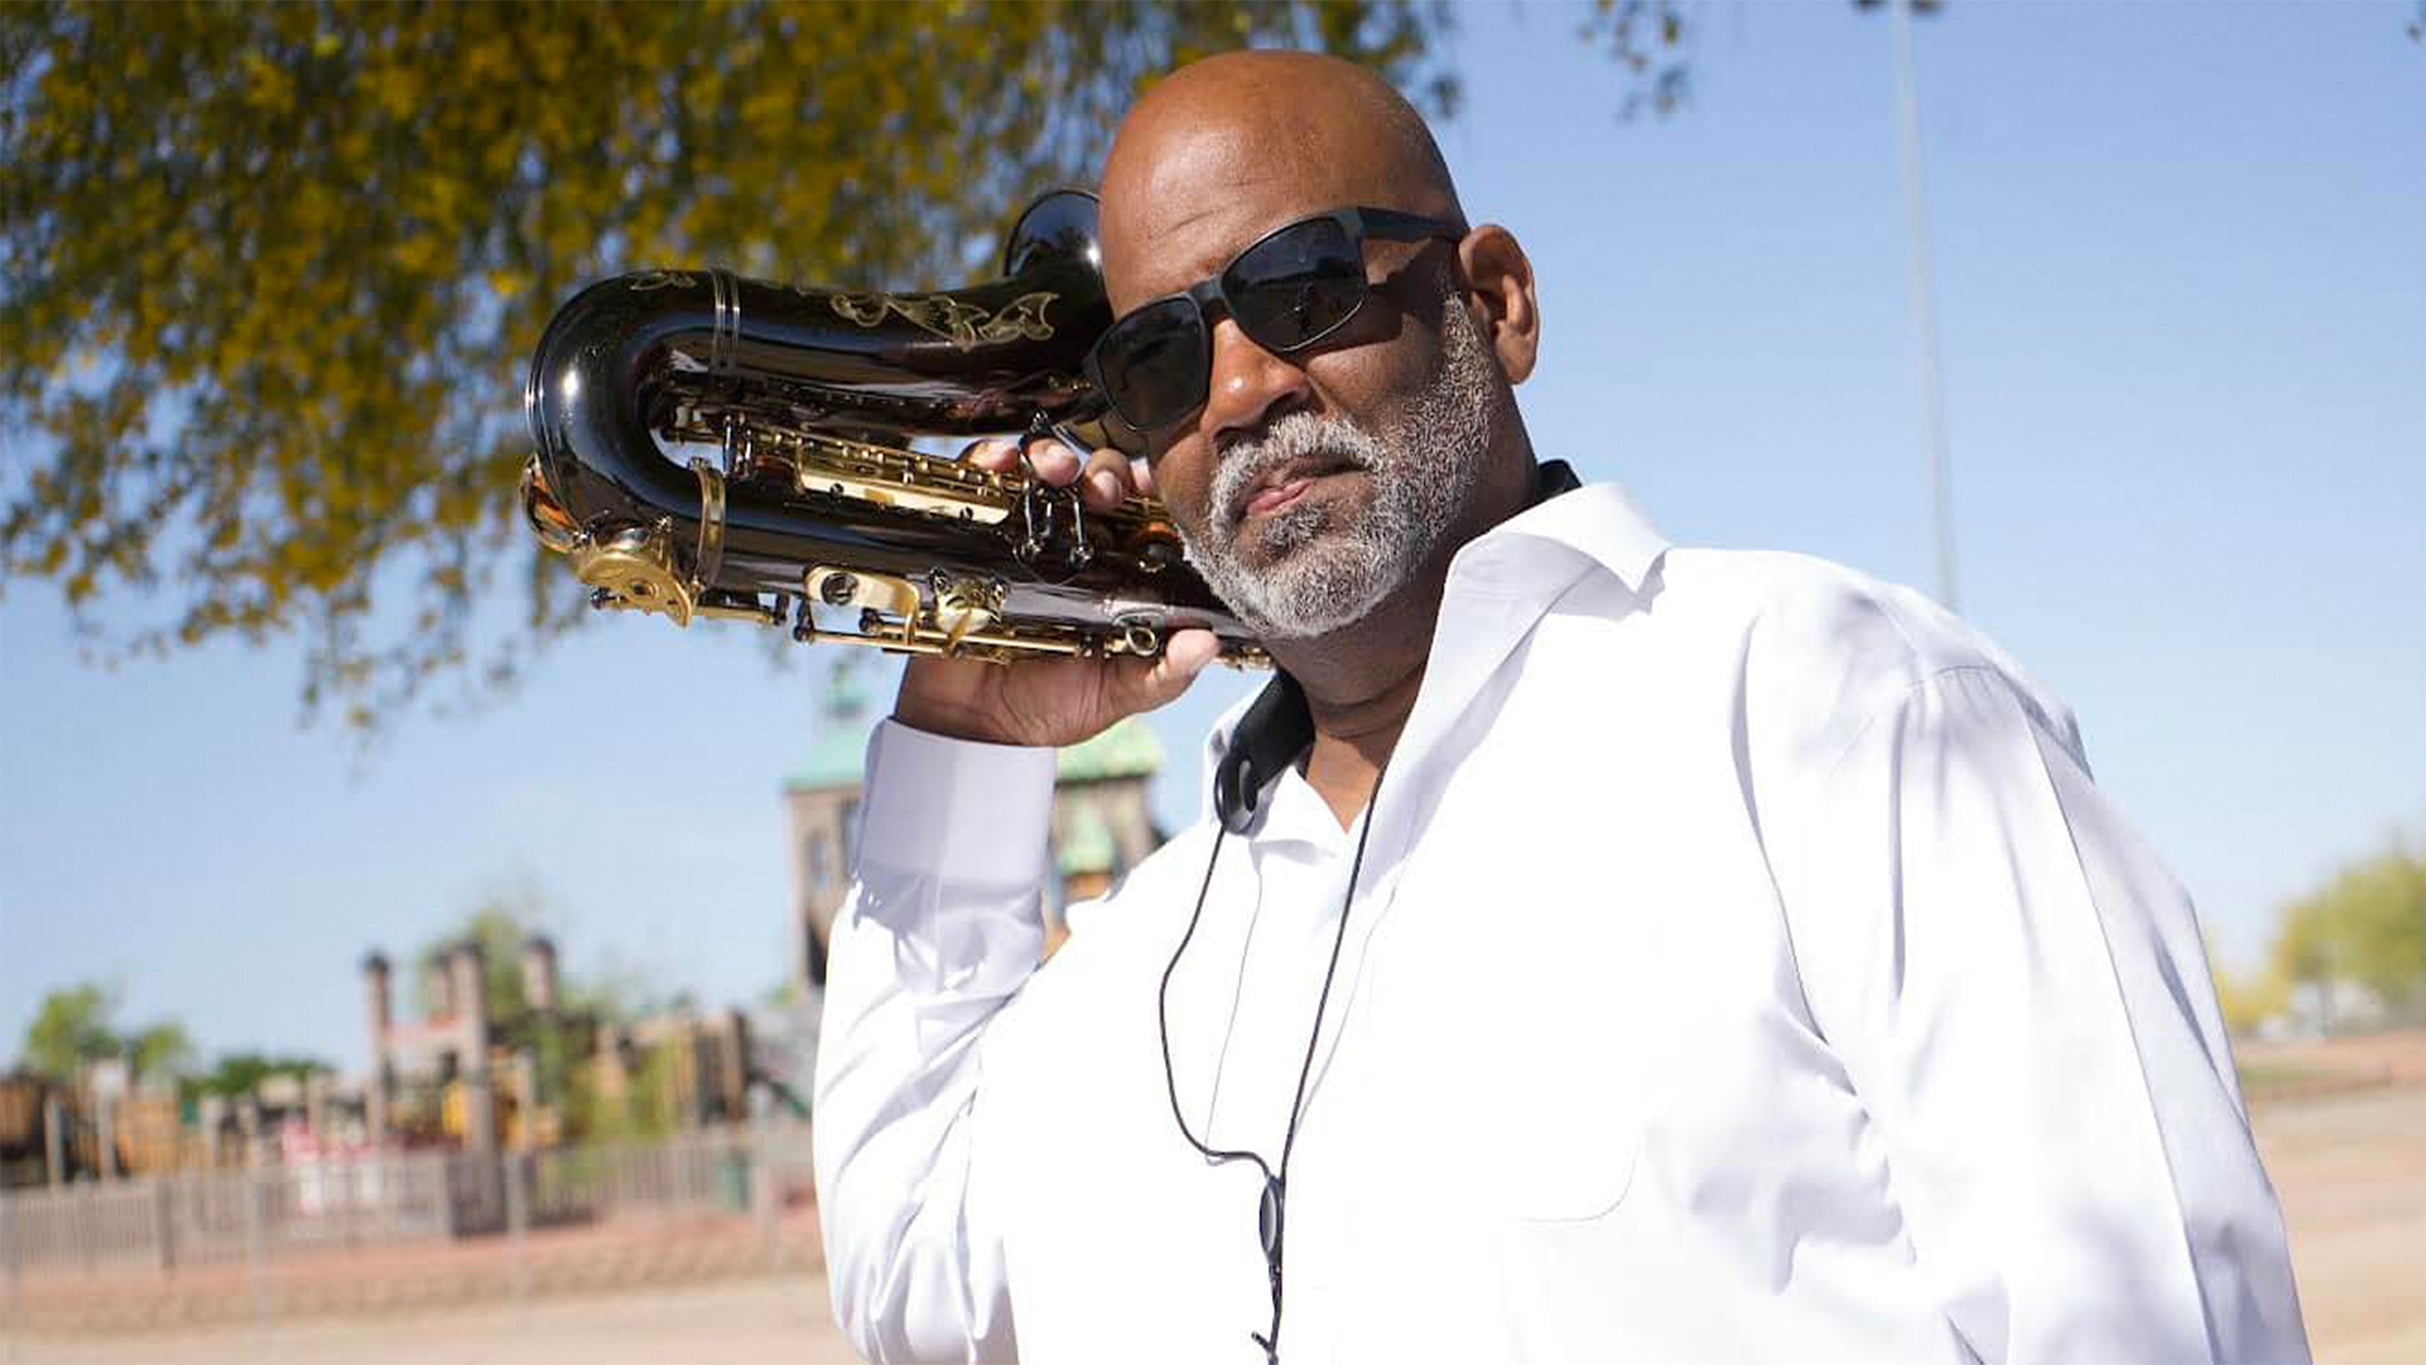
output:
[[[1499, 594], [1538, 594], [1543, 606], [1572, 584], [1572, 575], [1526, 565], [1526, 550], [1562, 546], [1606, 567], [1633, 594], [1645, 594], [1659, 555], [1669, 543], [1613, 482], [1584, 485], [1567, 461], [1538, 466], [1536, 502], [1492, 526], [1451, 562], [1448, 592], [1490, 589]], [[1485, 587], [1490, 584], [1490, 587]], [[1259, 693], [1232, 706], [1206, 737], [1208, 807], [1232, 834], [1254, 822], [1257, 805], [1271, 781], [1295, 764], [1315, 739], [1315, 718], [1305, 708], [1298, 679], [1274, 672]]]

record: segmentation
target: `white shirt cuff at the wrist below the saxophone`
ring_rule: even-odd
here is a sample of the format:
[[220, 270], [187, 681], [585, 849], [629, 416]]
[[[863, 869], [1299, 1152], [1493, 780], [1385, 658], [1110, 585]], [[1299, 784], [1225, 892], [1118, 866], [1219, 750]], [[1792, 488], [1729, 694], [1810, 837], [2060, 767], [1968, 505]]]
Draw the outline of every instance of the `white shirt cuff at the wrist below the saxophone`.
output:
[[1053, 749], [951, 739], [883, 720], [869, 737], [859, 856], [956, 883], [1038, 885]]

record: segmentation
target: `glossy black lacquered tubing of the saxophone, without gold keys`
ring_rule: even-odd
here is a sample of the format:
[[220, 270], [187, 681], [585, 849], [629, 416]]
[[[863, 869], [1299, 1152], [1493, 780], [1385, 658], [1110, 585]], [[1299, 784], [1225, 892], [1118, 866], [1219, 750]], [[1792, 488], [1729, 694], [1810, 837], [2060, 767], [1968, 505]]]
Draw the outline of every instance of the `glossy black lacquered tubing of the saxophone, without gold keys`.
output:
[[[594, 538], [667, 519], [672, 543], [691, 546], [699, 478], [657, 441], [679, 407], [740, 407], [878, 444], [1021, 432], [1036, 415], [1097, 419], [1104, 402], [1082, 361], [1111, 308], [1094, 199], [1038, 199], [1012, 230], [1004, 272], [949, 293], [827, 291], [718, 269], [592, 284], [556, 313], [531, 356], [524, 412], [541, 478]], [[1106, 630], [1145, 613], [1249, 640], [1186, 565], [1138, 575], [1121, 555], [1099, 555], [1077, 575], [1041, 575], [1000, 529], [733, 478], [723, 558], [706, 587], [798, 594], [808, 565], [990, 575], [1009, 587], [1007, 616]]]

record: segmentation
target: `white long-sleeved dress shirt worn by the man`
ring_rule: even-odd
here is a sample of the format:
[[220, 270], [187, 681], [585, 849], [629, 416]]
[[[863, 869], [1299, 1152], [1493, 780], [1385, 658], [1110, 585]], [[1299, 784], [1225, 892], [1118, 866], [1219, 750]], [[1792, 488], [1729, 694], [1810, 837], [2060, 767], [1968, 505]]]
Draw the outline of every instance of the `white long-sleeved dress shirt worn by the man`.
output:
[[[1235, 715], [1211, 739], [1213, 764]], [[885, 723], [818, 1186], [878, 1360], [1262, 1360], [1349, 861], [1293, 771], [1036, 970], [1053, 754]], [[2305, 1360], [2191, 902], [1926, 599], [1616, 487], [1448, 577], [1288, 1169], [1286, 1363]]]

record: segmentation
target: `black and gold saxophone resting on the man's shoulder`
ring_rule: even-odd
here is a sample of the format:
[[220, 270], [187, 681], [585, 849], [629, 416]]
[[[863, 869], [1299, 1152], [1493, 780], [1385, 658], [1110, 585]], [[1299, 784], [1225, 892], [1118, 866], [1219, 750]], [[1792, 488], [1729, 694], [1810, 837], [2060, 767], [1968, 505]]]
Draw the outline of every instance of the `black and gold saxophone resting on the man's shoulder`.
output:
[[[1094, 196], [1019, 216], [1002, 279], [873, 293], [653, 269], [575, 293], [531, 356], [522, 509], [592, 606], [990, 662], [1160, 655], [1269, 667], [1169, 512], [919, 453], [915, 436], [1104, 444], [1080, 366], [1111, 325]], [[1082, 434], [1084, 432], [1084, 434]]]

